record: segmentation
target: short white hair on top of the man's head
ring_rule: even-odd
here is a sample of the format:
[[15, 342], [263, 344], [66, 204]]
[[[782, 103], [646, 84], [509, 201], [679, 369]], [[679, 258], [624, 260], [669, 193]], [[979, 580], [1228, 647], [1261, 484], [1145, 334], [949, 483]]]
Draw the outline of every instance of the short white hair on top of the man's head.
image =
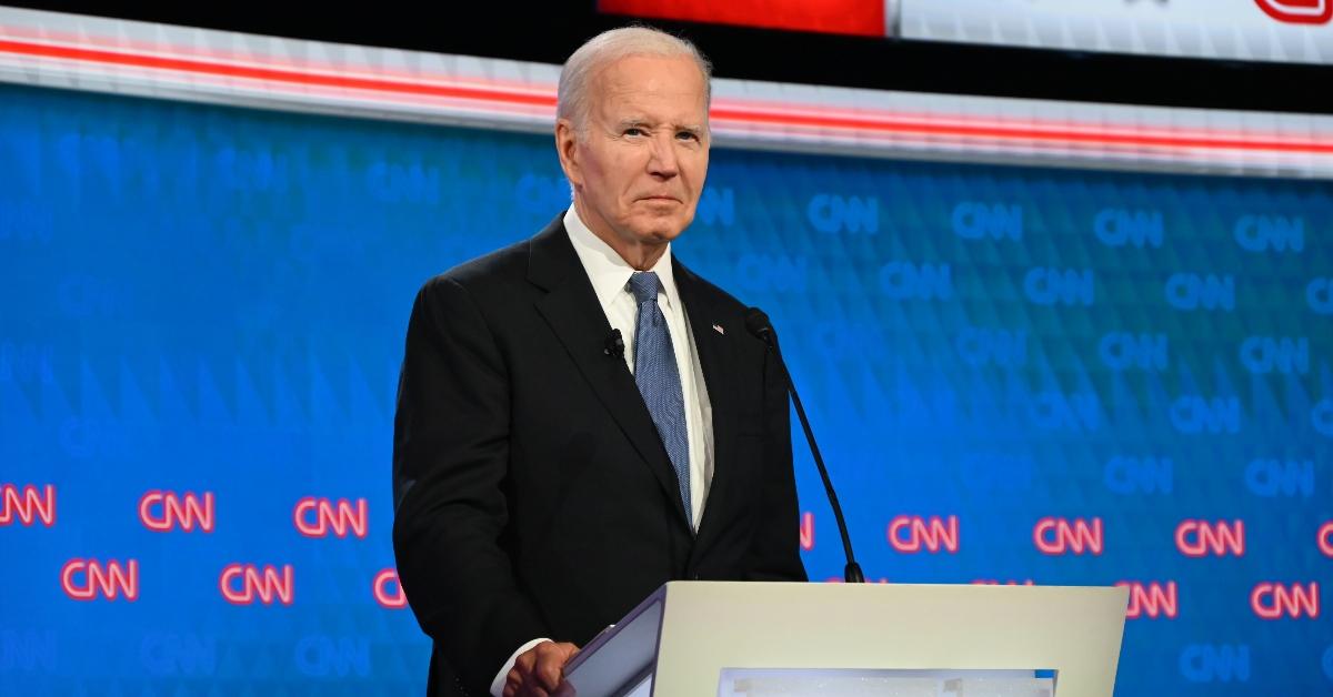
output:
[[708, 104], [713, 97], [709, 81], [713, 65], [694, 48], [694, 44], [652, 27], [621, 27], [593, 36], [565, 61], [560, 71], [560, 88], [556, 92], [556, 119], [569, 119], [575, 133], [580, 139], [587, 136], [588, 116], [592, 109], [588, 91], [593, 79], [603, 68], [631, 56], [692, 59], [704, 77], [704, 117], [708, 117]]

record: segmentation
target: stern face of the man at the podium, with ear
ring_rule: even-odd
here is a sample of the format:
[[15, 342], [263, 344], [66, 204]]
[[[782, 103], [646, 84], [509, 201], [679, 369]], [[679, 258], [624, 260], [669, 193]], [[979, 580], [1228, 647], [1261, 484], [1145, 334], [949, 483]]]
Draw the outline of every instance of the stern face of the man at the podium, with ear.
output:
[[557, 125], [580, 217], [624, 256], [692, 220], [708, 173], [704, 76], [689, 57], [631, 56], [593, 76], [585, 137]]

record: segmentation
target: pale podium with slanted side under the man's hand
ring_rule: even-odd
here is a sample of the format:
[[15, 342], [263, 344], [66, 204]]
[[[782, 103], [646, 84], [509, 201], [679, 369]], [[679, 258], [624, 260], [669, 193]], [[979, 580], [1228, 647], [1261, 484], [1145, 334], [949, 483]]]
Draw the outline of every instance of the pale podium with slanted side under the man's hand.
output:
[[672, 581], [565, 677], [580, 697], [1112, 697], [1128, 600], [1124, 588]]

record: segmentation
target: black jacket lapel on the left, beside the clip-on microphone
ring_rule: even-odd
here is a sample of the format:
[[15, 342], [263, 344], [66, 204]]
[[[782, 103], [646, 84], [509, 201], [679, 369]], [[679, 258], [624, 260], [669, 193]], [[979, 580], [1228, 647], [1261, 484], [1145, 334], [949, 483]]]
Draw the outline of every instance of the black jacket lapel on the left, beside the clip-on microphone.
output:
[[[528, 259], [528, 280], [548, 291], [537, 300], [537, 312], [564, 344], [579, 372], [625, 437], [648, 462], [663, 489], [672, 500], [680, 501], [676, 470], [672, 469], [666, 448], [663, 446], [633, 374], [625, 368], [623, 358], [605, 353], [611, 324], [601, 312], [597, 295], [560, 219], [532, 239]], [[632, 341], [633, 337], [624, 340]], [[676, 509], [680, 521], [686, 522], [684, 508]]]

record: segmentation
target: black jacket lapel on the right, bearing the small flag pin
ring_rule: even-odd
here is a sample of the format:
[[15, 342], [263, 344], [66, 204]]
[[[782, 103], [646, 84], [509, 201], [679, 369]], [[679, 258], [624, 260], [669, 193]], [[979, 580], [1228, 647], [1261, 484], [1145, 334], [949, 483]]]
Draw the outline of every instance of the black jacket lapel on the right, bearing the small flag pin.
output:
[[[693, 554], [697, 556], [701, 549], [708, 546], [714, 528], [725, 524], [726, 497], [734, 474], [730, 466], [732, 449], [736, 445], [736, 390], [732, 381], [736, 358], [732, 341], [736, 339], [734, 332], [742, 331], [742, 328], [722, 324], [725, 320], [717, 316], [704, 283], [681, 265], [674, 255], [672, 265], [676, 288], [680, 292], [681, 303], [685, 304], [689, 329], [694, 336], [694, 350], [698, 353], [698, 365], [704, 372], [704, 386], [708, 389], [708, 400], [713, 408], [713, 480], [708, 500], [704, 501], [704, 516], [698, 524], [698, 536], [693, 549]], [[722, 332], [714, 327], [721, 327]], [[732, 335], [728, 336], [726, 332]]]

